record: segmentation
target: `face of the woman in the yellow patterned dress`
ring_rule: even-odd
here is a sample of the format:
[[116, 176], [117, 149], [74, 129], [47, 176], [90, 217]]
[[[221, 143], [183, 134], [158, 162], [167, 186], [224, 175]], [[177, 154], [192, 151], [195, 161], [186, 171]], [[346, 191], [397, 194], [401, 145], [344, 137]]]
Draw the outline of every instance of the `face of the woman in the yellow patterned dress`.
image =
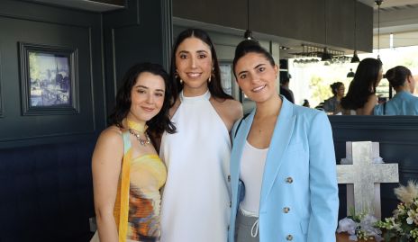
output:
[[159, 113], [164, 103], [166, 85], [161, 76], [142, 72], [131, 90], [131, 108], [127, 118], [145, 123]]

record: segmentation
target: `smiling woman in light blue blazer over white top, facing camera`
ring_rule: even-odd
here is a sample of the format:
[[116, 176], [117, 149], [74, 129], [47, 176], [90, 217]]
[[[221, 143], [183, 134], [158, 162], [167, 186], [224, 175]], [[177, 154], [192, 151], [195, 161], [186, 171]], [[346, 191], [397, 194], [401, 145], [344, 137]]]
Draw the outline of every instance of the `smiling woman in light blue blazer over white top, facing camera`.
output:
[[233, 71], [256, 108], [232, 132], [229, 241], [334, 242], [339, 200], [327, 116], [277, 94], [278, 68], [257, 41], [238, 45]]

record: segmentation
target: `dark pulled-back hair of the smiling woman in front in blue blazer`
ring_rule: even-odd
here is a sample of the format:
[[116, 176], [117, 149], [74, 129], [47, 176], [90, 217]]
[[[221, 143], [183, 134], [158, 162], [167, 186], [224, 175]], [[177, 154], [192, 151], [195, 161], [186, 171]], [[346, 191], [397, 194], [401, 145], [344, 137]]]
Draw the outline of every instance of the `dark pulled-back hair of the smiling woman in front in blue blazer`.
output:
[[271, 54], [266, 49], [262, 48], [257, 40], [242, 40], [235, 49], [235, 57], [232, 61], [233, 75], [235, 76], [235, 78], [237, 78], [237, 75], [235, 73], [235, 67], [237, 65], [238, 60], [240, 60], [240, 58], [247, 55], [248, 53], [261, 54], [265, 58], [267, 58], [268, 62], [272, 67], [276, 65], [274, 58], [271, 56]]

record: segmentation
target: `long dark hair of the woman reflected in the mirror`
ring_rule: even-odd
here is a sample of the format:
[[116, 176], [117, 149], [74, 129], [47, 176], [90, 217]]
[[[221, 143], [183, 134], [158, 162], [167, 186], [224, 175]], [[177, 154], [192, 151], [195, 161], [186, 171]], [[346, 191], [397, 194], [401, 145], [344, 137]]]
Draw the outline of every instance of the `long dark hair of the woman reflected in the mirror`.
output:
[[349, 91], [341, 98], [341, 107], [346, 110], [362, 108], [368, 102], [368, 96], [376, 94], [377, 77], [381, 68], [382, 62], [377, 58], [361, 60], [356, 75], [350, 83]]

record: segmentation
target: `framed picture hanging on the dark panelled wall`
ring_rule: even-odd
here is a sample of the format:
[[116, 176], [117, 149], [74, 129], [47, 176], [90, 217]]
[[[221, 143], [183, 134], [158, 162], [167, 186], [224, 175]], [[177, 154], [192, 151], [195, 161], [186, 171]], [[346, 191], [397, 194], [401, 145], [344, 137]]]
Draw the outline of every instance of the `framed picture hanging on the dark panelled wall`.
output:
[[19, 42], [23, 115], [76, 114], [77, 49]]

